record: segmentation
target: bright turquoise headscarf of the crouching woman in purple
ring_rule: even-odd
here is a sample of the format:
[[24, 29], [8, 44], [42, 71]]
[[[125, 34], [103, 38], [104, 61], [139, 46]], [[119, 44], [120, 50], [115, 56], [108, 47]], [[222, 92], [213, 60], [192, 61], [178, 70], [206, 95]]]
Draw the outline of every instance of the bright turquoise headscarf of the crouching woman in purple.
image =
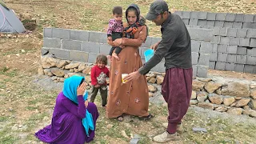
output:
[[[74, 75], [70, 78], [66, 78], [64, 81], [63, 94], [66, 96], [66, 98], [69, 98], [76, 104], [78, 104], [77, 89], [80, 83], [84, 81], [84, 79], [84, 77]], [[86, 101], [87, 97], [88, 93], [85, 91], [83, 99]], [[86, 118], [82, 118], [82, 125], [86, 130], [86, 135], [89, 137], [89, 129], [94, 130], [94, 121], [88, 110], [86, 110]]]

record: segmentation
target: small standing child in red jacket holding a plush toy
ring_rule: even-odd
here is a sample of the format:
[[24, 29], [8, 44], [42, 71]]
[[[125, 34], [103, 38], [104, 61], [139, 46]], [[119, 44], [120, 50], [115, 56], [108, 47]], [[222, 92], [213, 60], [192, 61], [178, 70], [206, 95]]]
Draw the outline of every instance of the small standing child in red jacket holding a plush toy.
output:
[[110, 77], [110, 71], [106, 68], [107, 58], [105, 55], [100, 54], [96, 59], [96, 65], [90, 71], [91, 84], [93, 85], [90, 102], [94, 102], [98, 90], [102, 96], [102, 106], [106, 106], [107, 87], [106, 77]]

